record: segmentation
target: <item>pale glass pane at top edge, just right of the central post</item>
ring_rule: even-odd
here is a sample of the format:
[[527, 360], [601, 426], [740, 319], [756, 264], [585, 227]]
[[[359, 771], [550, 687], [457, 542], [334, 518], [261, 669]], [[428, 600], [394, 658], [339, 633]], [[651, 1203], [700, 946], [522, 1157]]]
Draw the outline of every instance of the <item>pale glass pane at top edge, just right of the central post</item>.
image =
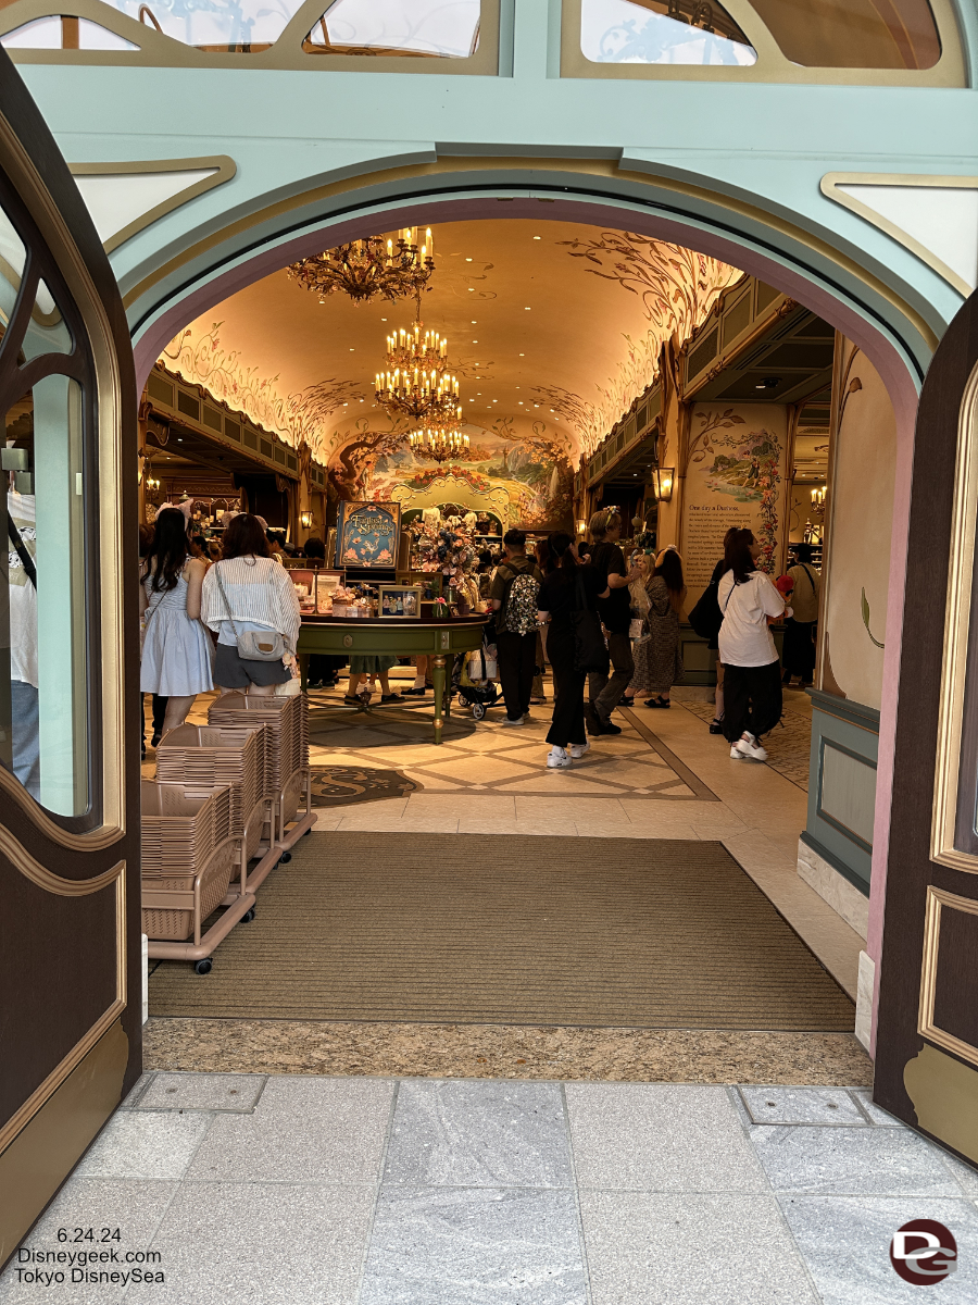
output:
[[754, 64], [730, 16], [703, 0], [582, 0], [580, 50], [596, 64]]

